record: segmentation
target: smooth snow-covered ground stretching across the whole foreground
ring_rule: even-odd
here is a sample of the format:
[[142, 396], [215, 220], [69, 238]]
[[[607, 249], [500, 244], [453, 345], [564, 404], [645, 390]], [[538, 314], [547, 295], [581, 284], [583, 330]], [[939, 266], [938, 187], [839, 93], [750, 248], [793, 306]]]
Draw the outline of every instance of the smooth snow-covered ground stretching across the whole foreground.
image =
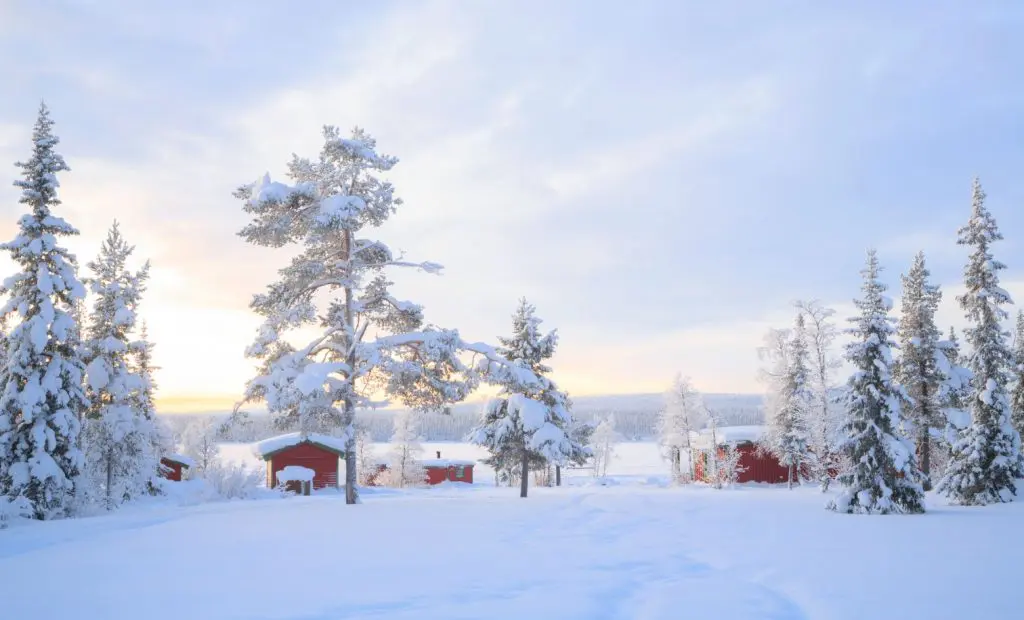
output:
[[[813, 490], [667, 488], [653, 446], [620, 454], [617, 485], [578, 472], [526, 500], [478, 477], [367, 490], [354, 507], [328, 492], [19, 525], [0, 532], [0, 617], [940, 620], [1024, 609], [1024, 504], [930, 496], [922, 516], [840, 515]], [[224, 455], [251, 458], [240, 446]]]

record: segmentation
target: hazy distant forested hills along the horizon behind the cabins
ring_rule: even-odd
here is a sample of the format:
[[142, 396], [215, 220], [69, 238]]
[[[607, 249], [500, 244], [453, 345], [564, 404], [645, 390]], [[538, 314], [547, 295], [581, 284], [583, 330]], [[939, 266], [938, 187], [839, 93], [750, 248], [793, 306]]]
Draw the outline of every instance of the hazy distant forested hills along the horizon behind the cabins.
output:
[[[705, 405], [719, 419], [719, 425], [763, 424], [764, 410], [760, 395], [703, 395]], [[426, 413], [421, 431], [423, 441], [461, 442], [480, 418], [482, 403], [456, 405], [451, 413]], [[651, 441], [656, 435], [657, 416], [664, 407], [660, 394], [579, 397], [573, 399], [572, 414], [584, 422], [613, 417], [615, 429], [626, 441]], [[375, 442], [386, 442], [392, 432], [395, 410], [361, 411], [357, 423], [367, 428]], [[180, 433], [198, 417], [214, 417], [220, 422], [219, 439], [225, 442], [253, 442], [291, 429], [276, 428], [266, 414], [253, 413], [242, 423], [228, 423], [227, 412], [174, 414], [162, 416]]]

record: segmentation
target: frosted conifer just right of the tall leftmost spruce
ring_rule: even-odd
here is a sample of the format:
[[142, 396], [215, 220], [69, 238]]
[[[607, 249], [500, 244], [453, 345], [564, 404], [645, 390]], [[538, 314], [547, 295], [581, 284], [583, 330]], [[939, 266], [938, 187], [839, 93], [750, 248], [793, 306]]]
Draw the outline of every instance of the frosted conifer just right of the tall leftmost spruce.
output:
[[148, 263], [138, 272], [128, 268], [133, 251], [114, 222], [88, 265], [93, 304], [84, 348], [90, 406], [82, 439], [91, 486], [108, 508], [152, 490], [160, 468], [159, 428], [152, 403], [144, 402], [143, 379], [132, 369], [131, 332], [150, 271]]

